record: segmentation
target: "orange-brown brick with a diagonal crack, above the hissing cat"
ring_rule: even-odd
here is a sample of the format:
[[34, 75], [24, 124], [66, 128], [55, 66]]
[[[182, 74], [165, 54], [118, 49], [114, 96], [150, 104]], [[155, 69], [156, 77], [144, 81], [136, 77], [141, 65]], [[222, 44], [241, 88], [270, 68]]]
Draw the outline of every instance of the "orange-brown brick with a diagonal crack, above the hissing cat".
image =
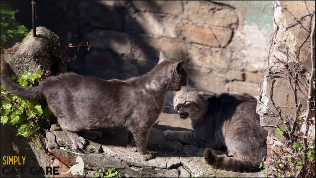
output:
[[225, 47], [233, 35], [232, 30], [228, 28], [190, 23], [184, 23], [181, 30], [187, 41], [220, 48]]

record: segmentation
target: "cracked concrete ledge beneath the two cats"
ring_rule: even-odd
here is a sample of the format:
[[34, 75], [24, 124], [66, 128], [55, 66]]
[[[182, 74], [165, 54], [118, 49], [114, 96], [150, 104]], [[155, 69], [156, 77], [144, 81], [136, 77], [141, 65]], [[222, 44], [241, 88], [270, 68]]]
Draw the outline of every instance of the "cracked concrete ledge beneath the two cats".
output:
[[[177, 119], [177, 120], [173, 120]], [[204, 148], [183, 145], [178, 141], [167, 140], [163, 130], [190, 130], [189, 120], [180, 120], [176, 114], [162, 113], [150, 130], [148, 150], [153, 159], [142, 161], [138, 153], [132, 153], [126, 148], [125, 130], [122, 128], [102, 130], [102, 137], [90, 141], [82, 151], [81, 157], [86, 169], [116, 168], [120, 173], [132, 177], [262, 177], [261, 173], [235, 173], [216, 170], [204, 162]], [[157, 122], [158, 122], [157, 121]], [[168, 123], [168, 124], [166, 124]], [[164, 125], [166, 124], [166, 125]], [[56, 136], [59, 146], [70, 150], [71, 142], [66, 133], [57, 124], [53, 124], [50, 132]], [[52, 134], [49, 134], [50, 136]], [[98, 153], [100, 147], [104, 152]], [[50, 148], [50, 145], [48, 145]], [[49, 149], [62, 162], [68, 165], [76, 164], [76, 154], [62, 149]], [[72, 150], [75, 151], [75, 150]], [[224, 152], [214, 150], [215, 155], [226, 156]]]

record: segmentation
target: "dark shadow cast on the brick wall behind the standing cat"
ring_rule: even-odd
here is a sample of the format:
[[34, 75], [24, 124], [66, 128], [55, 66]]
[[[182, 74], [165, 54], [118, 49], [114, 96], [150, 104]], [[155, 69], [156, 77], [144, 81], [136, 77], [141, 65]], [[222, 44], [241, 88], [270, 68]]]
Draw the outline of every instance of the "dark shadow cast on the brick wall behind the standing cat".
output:
[[[16, 22], [31, 30], [31, 1], [2, 3], [17, 10]], [[149, 1], [147, 5], [159, 11], [160, 7], [155, 2]], [[51, 29], [64, 45], [69, 42], [73, 45], [80, 42], [85, 44], [86, 41], [92, 45], [88, 52], [84, 47], [79, 52], [77, 48], [67, 48], [67, 57], [77, 56], [75, 61], [67, 63], [68, 71], [102, 79], [128, 79], [149, 72], [158, 62], [162, 49], [149, 44], [148, 35], [133, 16], [137, 12], [132, 1], [125, 1], [121, 6], [107, 6], [99, 1], [36, 1], [37, 26]], [[91, 36], [90, 33], [96, 35]], [[118, 53], [116, 48], [113, 50], [111, 44], [124, 45], [124, 39], [131, 43], [128, 46], [130, 52]], [[144, 55], [141, 61], [135, 56], [135, 50]]]

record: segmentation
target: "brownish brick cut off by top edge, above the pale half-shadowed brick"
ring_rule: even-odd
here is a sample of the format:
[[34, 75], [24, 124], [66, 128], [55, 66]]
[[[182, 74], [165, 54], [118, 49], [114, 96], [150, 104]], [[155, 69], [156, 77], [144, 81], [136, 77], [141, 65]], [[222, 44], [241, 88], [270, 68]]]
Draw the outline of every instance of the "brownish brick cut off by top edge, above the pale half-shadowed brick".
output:
[[132, 1], [140, 11], [179, 15], [183, 13], [182, 1]]

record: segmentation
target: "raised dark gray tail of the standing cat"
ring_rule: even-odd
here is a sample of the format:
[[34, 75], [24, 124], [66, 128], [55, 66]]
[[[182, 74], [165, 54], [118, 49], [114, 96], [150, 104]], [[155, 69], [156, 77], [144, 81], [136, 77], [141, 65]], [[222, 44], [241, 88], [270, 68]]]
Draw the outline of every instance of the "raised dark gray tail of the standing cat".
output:
[[10, 65], [5, 61], [1, 61], [1, 85], [10, 93], [28, 100], [40, 100], [44, 97], [44, 93], [41, 91], [42, 85], [36, 87], [19, 86], [11, 79], [9, 71], [12, 71]]

